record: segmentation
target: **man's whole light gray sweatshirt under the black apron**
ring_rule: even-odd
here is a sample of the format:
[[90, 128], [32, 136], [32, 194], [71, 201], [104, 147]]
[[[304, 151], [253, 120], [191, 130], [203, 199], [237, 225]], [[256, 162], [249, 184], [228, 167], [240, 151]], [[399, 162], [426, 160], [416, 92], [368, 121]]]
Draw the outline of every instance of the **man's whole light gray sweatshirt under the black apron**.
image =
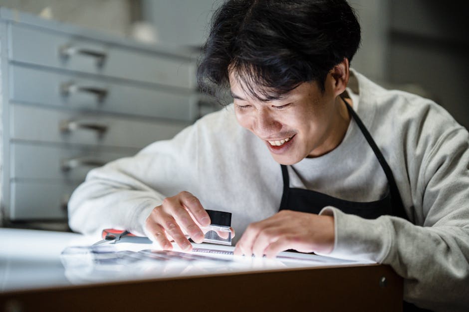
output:
[[[469, 308], [469, 136], [441, 106], [387, 91], [352, 72], [348, 93], [391, 167], [411, 222], [375, 220], [334, 207], [331, 256], [391, 265], [405, 278], [404, 298], [441, 311]], [[289, 166], [290, 187], [349, 201], [375, 201], [386, 176], [355, 121], [326, 155]], [[103, 228], [145, 235], [144, 222], [164, 198], [181, 191], [207, 209], [233, 213], [238, 239], [251, 222], [278, 211], [280, 165], [264, 143], [239, 126], [232, 105], [158, 141], [134, 157], [89, 172], [69, 202], [73, 230]]]

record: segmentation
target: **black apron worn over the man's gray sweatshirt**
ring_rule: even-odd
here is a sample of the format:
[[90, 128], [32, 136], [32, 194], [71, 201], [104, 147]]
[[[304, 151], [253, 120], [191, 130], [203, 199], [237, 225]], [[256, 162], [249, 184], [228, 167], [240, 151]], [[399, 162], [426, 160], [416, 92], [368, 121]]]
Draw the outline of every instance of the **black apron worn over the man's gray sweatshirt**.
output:
[[[290, 188], [288, 170], [287, 167], [281, 165], [282, 176], [283, 176], [283, 195], [282, 201], [280, 203], [280, 209], [289, 209], [294, 211], [309, 212], [309, 213], [319, 213], [322, 208], [326, 206], [333, 206], [342, 210], [345, 213], [355, 214], [367, 219], [376, 219], [381, 215], [393, 215], [398, 216], [404, 219], [409, 220], [406, 215], [404, 204], [402, 203], [401, 195], [399, 194], [399, 189], [394, 180], [393, 173], [389, 167], [386, 159], [381, 153], [380, 149], [373, 140], [370, 132], [363, 124], [360, 117], [357, 113], [350, 107], [347, 102], [345, 102], [347, 109], [350, 115], [353, 117], [358, 127], [362, 131], [365, 139], [370, 144], [373, 152], [378, 158], [378, 161], [383, 168], [386, 178], [388, 179], [389, 191], [387, 195], [378, 201], [375, 202], [351, 202], [345, 201], [332, 196], [304, 189]], [[403, 303], [403, 311], [429, 311], [425, 309], [420, 309], [417, 306], [410, 304], [408, 302]]]

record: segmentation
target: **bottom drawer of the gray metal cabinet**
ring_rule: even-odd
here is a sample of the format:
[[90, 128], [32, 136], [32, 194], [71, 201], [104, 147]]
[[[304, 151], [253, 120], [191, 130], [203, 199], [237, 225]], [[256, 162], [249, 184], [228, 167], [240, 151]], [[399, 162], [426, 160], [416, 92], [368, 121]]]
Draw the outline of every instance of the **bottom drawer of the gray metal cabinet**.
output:
[[11, 183], [11, 220], [65, 219], [68, 199], [78, 185], [78, 183]]

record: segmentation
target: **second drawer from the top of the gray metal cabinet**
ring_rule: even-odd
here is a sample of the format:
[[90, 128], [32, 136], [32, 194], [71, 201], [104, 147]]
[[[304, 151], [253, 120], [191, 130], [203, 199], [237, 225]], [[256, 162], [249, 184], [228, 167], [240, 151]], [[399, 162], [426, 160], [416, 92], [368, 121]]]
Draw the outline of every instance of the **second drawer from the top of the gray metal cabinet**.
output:
[[197, 96], [140, 88], [102, 79], [10, 66], [10, 99], [77, 109], [193, 121]]

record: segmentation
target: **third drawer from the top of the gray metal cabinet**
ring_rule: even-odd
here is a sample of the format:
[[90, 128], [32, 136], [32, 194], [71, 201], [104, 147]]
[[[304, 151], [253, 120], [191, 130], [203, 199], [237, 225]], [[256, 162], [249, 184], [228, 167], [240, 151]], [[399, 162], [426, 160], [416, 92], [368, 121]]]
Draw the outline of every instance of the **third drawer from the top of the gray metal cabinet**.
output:
[[29, 105], [10, 106], [15, 140], [142, 148], [172, 138], [187, 123], [148, 121], [68, 112]]

